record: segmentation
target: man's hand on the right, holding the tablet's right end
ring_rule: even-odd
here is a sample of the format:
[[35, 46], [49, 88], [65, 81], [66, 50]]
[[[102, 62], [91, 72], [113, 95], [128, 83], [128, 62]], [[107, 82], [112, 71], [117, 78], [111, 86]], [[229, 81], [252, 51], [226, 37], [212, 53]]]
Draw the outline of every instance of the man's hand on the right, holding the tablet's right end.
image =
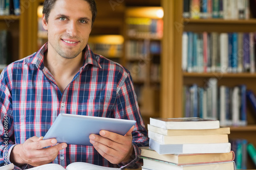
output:
[[134, 152], [133, 129], [134, 126], [124, 136], [101, 130], [100, 135], [91, 134], [89, 136], [90, 142], [99, 154], [111, 163], [127, 162]]

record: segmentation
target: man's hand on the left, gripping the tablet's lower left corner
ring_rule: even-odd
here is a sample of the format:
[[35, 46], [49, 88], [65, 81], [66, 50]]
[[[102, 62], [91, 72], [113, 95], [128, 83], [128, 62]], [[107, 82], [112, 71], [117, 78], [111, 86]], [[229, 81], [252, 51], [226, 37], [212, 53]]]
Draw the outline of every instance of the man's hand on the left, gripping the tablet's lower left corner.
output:
[[[11, 162], [18, 166], [23, 164], [39, 166], [52, 162], [60, 150], [67, 148], [67, 143], [56, 144], [56, 139], [42, 140], [42, 138], [33, 136], [23, 144], [15, 145], [10, 155]], [[51, 145], [54, 146], [49, 147]]]

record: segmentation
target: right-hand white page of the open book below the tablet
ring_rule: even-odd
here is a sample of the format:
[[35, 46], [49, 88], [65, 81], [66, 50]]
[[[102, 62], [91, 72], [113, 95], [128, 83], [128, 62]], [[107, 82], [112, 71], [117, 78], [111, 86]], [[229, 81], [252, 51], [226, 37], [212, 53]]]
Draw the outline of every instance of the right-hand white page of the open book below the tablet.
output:
[[[104, 167], [104, 166], [99, 166], [99, 165], [94, 165], [91, 163], [86, 163], [86, 162], [74, 162], [71, 163], [67, 166], [67, 170], [114, 170], [114, 169], [119, 169], [119, 168], [113, 168], [113, 167]], [[120, 170], [120, 169], [119, 169]]]

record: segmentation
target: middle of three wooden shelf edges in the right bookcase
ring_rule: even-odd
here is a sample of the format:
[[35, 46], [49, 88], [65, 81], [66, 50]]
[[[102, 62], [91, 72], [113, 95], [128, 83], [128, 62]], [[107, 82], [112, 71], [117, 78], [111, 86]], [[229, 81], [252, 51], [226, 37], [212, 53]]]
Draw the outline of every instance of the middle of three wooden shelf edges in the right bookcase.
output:
[[183, 77], [225, 77], [225, 78], [256, 78], [256, 73], [221, 73], [221, 72], [183, 72]]

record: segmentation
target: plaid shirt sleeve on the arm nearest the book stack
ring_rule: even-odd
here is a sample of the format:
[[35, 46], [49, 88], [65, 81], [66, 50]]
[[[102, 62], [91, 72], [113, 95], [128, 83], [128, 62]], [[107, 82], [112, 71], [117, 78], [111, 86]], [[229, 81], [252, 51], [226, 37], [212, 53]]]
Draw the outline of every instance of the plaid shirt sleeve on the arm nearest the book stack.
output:
[[127, 76], [123, 78], [123, 83], [120, 83], [120, 86], [117, 87], [115, 116], [123, 119], [136, 120], [135, 128], [132, 132], [135, 155], [133, 155], [133, 160], [131, 162], [125, 165], [119, 165], [122, 168], [138, 168], [142, 165], [142, 160], [138, 157], [138, 155], [140, 155], [139, 147], [148, 146], [148, 137], [143, 119], [139, 111], [132, 77], [129, 72]]

